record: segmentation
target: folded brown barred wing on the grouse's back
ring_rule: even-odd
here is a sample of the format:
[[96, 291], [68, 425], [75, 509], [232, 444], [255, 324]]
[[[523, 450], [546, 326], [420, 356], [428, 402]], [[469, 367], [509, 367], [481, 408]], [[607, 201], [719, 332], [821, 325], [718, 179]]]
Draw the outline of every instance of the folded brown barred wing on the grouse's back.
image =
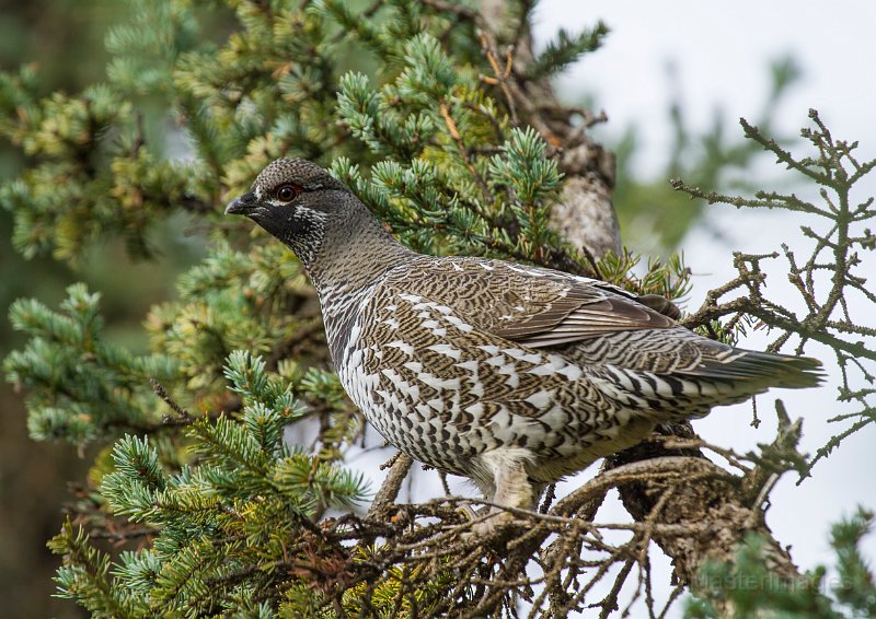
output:
[[530, 348], [677, 325], [629, 293], [587, 278], [483, 258], [433, 260], [425, 270], [420, 282], [429, 297], [482, 330]]

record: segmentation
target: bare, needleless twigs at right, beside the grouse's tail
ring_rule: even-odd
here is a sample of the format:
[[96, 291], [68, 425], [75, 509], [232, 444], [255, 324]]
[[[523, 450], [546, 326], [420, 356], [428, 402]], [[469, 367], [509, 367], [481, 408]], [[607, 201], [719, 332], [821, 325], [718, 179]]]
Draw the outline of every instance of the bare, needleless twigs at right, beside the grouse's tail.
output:
[[[876, 160], [858, 162], [852, 154], [857, 144], [835, 140], [816, 110], [809, 112], [809, 118], [815, 128], [805, 128], [800, 135], [815, 149], [816, 156], [795, 156], [774, 140], [763, 137], [756, 127], [745, 120], [742, 127], [746, 137], [775, 154], [777, 161], [785, 164], [788, 170], [815, 180], [820, 186], [819, 195], [823, 200], [821, 205], [802, 200], [793, 194], [759, 191], [752, 199], [707, 192], [689, 187], [677, 179], [672, 182], [676, 189], [711, 203], [724, 202], [737, 208], [785, 209], [804, 212], [814, 218], [812, 225], [800, 226], [804, 236], [811, 242], [805, 250], [807, 253], [805, 259], [798, 258], [803, 252], [794, 253], [786, 245], [782, 246], [788, 280], [797, 290], [805, 308], [802, 314], [779, 305], [766, 292], [766, 278], [761, 262], [779, 259], [782, 257], [780, 253], [765, 256], [735, 254], [734, 266], [739, 276], [719, 289], [711, 291], [703, 306], [683, 320], [684, 325], [694, 328], [724, 316], [734, 316], [734, 320], [738, 322], [745, 315], [757, 318], [766, 327], [779, 331], [779, 337], [771, 344], [773, 350], [788, 341], [791, 336], [796, 336], [799, 341], [798, 351], [802, 351], [808, 341], [816, 341], [826, 344], [833, 352], [842, 371], [842, 383], [838, 387], [839, 399], [855, 401], [860, 410], [842, 417], [842, 421], [853, 418], [856, 418], [856, 421], [832, 436], [816, 452], [809, 466], [800, 471], [803, 477], [808, 476], [811, 467], [827, 457], [844, 439], [873, 422], [875, 418], [871, 397], [873, 392], [866, 387], [851, 385], [855, 381], [855, 375], [872, 383], [876, 373], [873, 369], [876, 349], [868, 346], [876, 330], [866, 323], [865, 316], [851, 315], [848, 305], [848, 300], [854, 294], [862, 295], [869, 303], [876, 299], [866, 288], [867, 278], [858, 272], [861, 265], [858, 252], [868, 250], [868, 233], [856, 232], [858, 226], [876, 217], [876, 211], [873, 209], [872, 198], [853, 206], [850, 196], [854, 184], [873, 170]], [[827, 284], [817, 277], [819, 272], [830, 276]], [[741, 295], [725, 300], [731, 293]]]

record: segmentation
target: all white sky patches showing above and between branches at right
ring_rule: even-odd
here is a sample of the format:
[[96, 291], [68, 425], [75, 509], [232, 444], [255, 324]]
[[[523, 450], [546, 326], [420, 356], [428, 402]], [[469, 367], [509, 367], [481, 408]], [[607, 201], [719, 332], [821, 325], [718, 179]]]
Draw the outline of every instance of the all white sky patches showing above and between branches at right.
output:
[[[834, 137], [861, 142], [858, 159], [876, 157], [876, 2], [543, 0], [535, 39], [544, 42], [561, 26], [574, 32], [598, 19], [612, 28], [604, 47], [564, 73], [560, 89], [570, 101], [585, 95], [596, 98], [609, 115], [610, 122], [599, 129], [609, 142], [630, 125], [639, 128], [644, 152], [636, 161], [643, 175], [657, 174], [669, 151], [666, 110], [671, 96], [666, 67], [670, 61], [677, 69], [688, 120], [705, 129], [717, 106], [731, 121], [740, 116], [753, 121], [768, 94], [769, 61], [789, 54], [803, 69], [803, 80], [780, 108], [779, 129], [797, 135], [807, 125], [808, 109], [815, 107]], [[762, 173], [775, 178], [777, 170]], [[874, 176], [865, 187], [868, 195], [876, 192]], [[715, 206], [707, 217], [708, 225], [726, 232], [728, 238], [716, 241], [708, 226], [699, 226], [683, 241], [681, 248], [696, 273], [691, 307], [699, 306], [706, 290], [731, 277], [731, 249], [768, 253], [782, 240], [789, 240], [792, 248], [805, 246], [796, 233], [804, 222], [786, 214]], [[864, 256], [862, 272], [876, 276], [873, 254]], [[793, 291], [783, 285], [783, 276], [781, 269], [772, 275], [771, 290], [779, 300], [791, 300]], [[872, 313], [872, 306], [867, 311]], [[872, 315], [858, 315], [865, 324], [876, 325]], [[764, 334], [756, 334], [746, 346], [762, 348], [768, 341]], [[809, 353], [828, 357], [819, 349]], [[834, 375], [819, 389], [759, 398], [763, 420], [759, 430], [749, 425], [750, 405], [719, 408], [696, 422], [696, 429], [707, 441], [748, 451], [774, 436], [773, 402], [781, 397], [792, 417], [805, 418], [803, 449], [811, 453], [841, 430], [828, 424], [827, 418], [849, 410], [835, 402], [835, 386]], [[811, 479], [797, 487], [796, 476], [788, 475], [773, 493], [768, 523], [781, 542], [792, 545], [793, 557], [804, 569], [832, 563], [831, 523], [858, 504], [876, 507], [873, 445], [876, 428], [869, 427], [822, 460]], [[865, 539], [864, 548], [876, 562], [876, 535]]]

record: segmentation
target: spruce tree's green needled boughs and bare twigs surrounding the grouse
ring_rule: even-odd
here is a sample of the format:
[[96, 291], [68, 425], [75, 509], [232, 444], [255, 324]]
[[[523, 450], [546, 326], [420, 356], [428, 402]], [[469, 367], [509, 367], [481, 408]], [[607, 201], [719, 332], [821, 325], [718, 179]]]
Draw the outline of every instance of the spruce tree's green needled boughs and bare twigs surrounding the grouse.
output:
[[[611, 525], [626, 533], [624, 541], [610, 544], [593, 523], [610, 488], [646, 479], [675, 488], [717, 477], [722, 500], [750, 506], [758, 499], [760, 510], [768, 478], [808, 466], [796, 451], [799, 427], [783, 410], [773, 444], [746, 455], [721, 451], [738, 475], [682, 458], [678, 449], [689, 456], [705, 447], [695, 439], [664, 441], [676, 451], [659, 466], [607, 466], [556, 505], [549, 498], [539, 514], [517, 514], [526, 534], [507, 547], [466, 535], [471, 518], [457, 498], [396, 503], [406, 456], [390, 464], [380, 489], [345, 463], [364, 425], [331, 371], [313, 291], [280, 244], [221, 218], [226, 198], [246, 190], [272, 160], [330, 166], [419, 252], [528, 261], [670, 300], [689, 290], [678, 257], [634, 269], [638, 257], [591, 252], [553, 225], [574, 174], [563, 152], [595, 120], [531, 94], [545, 92], [546, 77], [597, 49], [608, 31], [562, 32], [527, 58], [532, 3], [511, 4], [507, 23], [495, 27], [469, 3], [443, 0], [134, 0], [129, 22], [107, 37], [105, 83], [44, 97], [34, 70], [0, 73], [0, 137], [30, 162], [0, 187], [22, 254], [74, 262], [90, 244], [120, 236], [132, 256], [148, 257], [157, 222], [180, 212], [209, 230], [209, 256], [146, 318], [148, 354], [104, 335], [100, 293], [83, 284], [70, 287], [57, 311], [36, 300], [11, 310], [30, 339], [3, 370], [25, 389], [31, 435], [103, 447], [89, 491], [49, 542], [64, 562], [59, 595], [95, 617], [563, 617], [588, 606], [607, 616], [624, 586], [654, 608], [647, 549], [655, 540], [677, 559], [672, 599], [687, 588], [701, 596], [692, 616], [744, 608], [749, 598], [728, 602], [727, 591], [738, 589], [712, 584], [746, 574], [765, 582], [761, 571], [776, 557], [791, 568], [780, 574], [782, 587], [760, 592], [769, 599], [759, 604], [833, 616], [818, 583], [794, 584], [800, 575], [771, 552], [765, 527], [754, 528], [766, 538], [748, 541], [734, 530], [735, 558], [704, 552], [690, 564], [672, 554], [672, 527], [681, 525], [662, 518], [669, 499], [643, 517], [631, 507], [639, 522]], [[814, 118], [815, 159], [795, 160], [753, 128], [749, 137], [792, 167], [822, 166], [812, 179], [848, 198], [874, 163], [825, 138]], [[846, 174], [841, 185], [825, 183], [839, 171]], [[769, 203], [734, 203], [803, 208], [779, 195], [758, 200]], [[812, 233], [817, 250], [846, 249], [834, 253], [842, 260], [832, 269], [842, 276], [827, 299], [812, 275], [823, 262], [798, 266], [785, 252], [808, 317], [795, 323], [765, 300], [763, 257], [737, 256], [740, 278], [685, 324], [729, 340], [746, 316], [757, 316], [786, 334], [776, 346], [795, 334], [800, 347], [816, 339], [872, 383], [873, 347], [849, 343], [869, 331], [833, 314], [843, 311], [845, 287], [874, 301], [851, 257], [872, 249], [873, 235], [848, 227], [874, 217], [872, 201], [845, 202], [812, 207], [833, 222]], [[748, 297], [722, 303], [735, 290]], [[872, 422], [873, 390], [843, 388], [861, 405], [855, 429]], [[290, 427], [310, 428], [316, 439], [290, 444]], [[871, 519], [862, 512], [834, 533], [849, 584], [835, 597], [858, 612], [876, 609], [856, 547]], [[702, 541], [707, 524], [690, 525], [690, 537]], [[634, 569], [638, 581], [627, 584]], [[597, 599], [603, 579], [610, 586]]]

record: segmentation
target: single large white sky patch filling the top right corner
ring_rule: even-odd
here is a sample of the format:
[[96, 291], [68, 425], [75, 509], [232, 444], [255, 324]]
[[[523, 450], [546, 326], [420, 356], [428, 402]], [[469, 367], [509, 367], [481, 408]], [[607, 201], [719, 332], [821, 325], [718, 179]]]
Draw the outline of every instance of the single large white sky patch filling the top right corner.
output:
[[648, 172], [669, 145], [670, 61], [688, 119], [704, 128], [716, 106], [731, 121], [753, 120], [769, 89], [768, 62], [789, 54], [804, 79], [788, 93], [780, 128], [796, 135], [815, 107], [835, 136], [876, 152], [876, 2], [542, 0], [535, 19], [537, 42], [560, 27], [575, 32], [599, 19], [609, 25], [606, 45], [566, 71], [560, 89], [572, 98], [595, 95], [609, 132], [637, 125]]

